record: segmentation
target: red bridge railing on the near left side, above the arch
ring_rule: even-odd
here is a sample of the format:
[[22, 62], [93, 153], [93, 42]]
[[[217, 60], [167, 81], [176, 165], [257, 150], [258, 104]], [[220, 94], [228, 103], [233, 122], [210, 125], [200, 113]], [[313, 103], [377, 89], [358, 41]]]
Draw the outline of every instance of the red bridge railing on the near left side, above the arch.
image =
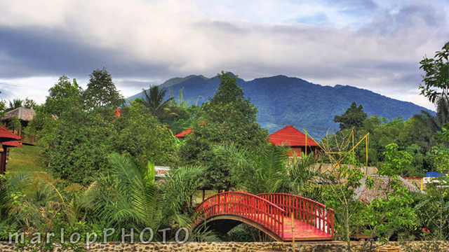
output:
[[220, 215], [234, 215], [254, 221], [279, 237], [283, 237], [283, 217], [285, 211], [272, 202], [257, 195], [243, 192], [218, 193], [204, 200], [196, 211], [201, 213], [196, 224], [203, 218]]

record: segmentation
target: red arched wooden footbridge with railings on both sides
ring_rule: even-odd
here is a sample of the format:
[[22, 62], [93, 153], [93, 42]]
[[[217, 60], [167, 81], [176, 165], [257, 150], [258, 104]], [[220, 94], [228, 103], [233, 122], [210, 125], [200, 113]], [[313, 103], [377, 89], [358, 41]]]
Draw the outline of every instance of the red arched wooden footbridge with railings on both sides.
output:
[[218, 193], [204, 200], [196, 212], [195, 228], [227, 233], [241, 223], [252, 225], [276, 241], [332, 240], [334, 211], [304, 197], [287, 193], [252, 195], [242, 192]]

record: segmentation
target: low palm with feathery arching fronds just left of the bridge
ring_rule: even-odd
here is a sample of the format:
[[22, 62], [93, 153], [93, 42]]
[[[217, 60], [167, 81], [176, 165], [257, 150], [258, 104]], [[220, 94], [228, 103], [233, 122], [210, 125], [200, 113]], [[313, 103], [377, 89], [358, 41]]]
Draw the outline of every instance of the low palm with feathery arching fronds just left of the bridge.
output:
[[[130, 156], [119, 154], [109, 155], [108, 160], [113, 172], [95, 178], [82, 196], [88, 222], [137, 232], [189, 225], [193, 217], [185, 207], [199, 188], [201, 167], [173, 169], [165, 183], [157, 186], [151, 163], [144, 169], [135, 165]], [[159, 235], [154, 232], [155, 239], [160, 239]], [[121, 239], [121, 233], [116, 232], [112, 239]]]

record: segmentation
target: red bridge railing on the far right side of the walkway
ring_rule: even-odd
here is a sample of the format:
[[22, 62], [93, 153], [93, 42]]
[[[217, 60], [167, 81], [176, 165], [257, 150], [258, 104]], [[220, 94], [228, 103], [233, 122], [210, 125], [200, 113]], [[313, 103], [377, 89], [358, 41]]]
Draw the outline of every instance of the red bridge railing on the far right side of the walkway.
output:
[[285, 215], [309, 223], [314, 227], [334, 236], [334, 210], [325, 205], [297, 195], [288, 193], [262, 193], [257, 196], [276, 204], [285, 210]]

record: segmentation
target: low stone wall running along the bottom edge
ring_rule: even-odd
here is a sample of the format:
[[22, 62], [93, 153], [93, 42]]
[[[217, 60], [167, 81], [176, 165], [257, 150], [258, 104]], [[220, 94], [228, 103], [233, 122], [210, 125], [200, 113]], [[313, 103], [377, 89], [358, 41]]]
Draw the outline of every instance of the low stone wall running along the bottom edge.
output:
[[[389, 244], [380, 247], [380, 251], [395, 252], [417, 252], [417, 251], [449, 251], [449, 244], [443, 242], [436, 242], [438, 250], [430, 250], [421, 241], [408, 242], [407, 244], [400, 244], [398, 242], [390, 242]], [[363, 243], [353, 242], [354, 251], [362, 251]], [[0, 242], [1, 252], [13, 252], [15, 244], [8, 244], [7, 242]], [[385, 249], [389, 248], [389, 249]], [[393, 248], [400, 248], [395, 250]], [[410, 249], [413, 248], [413, 249]], [[60, 248], [55, 248], [54, 252], [60, 252]], [[95, 243], [91, 244], [88, 251], [92, 252], [144, 252], [144, 251], [161, 251], [161, 252], [277, 252], [288, 251], [292, 252], [291, 243], [283, 242], [186, 242], [184, 244], [177, 244], [176, 242], [152, 242], [149, 244], [121, 244], [121, 243]], [[295, 252], [344, 252], [347, 251], [346, 244], [341, 241], [315, 241], [315, 242], [298, 242], [295, 244]], [[366, 251], [366, 250], [363, 250]], [[374, 250], [377, 251], [377, 248]]]

